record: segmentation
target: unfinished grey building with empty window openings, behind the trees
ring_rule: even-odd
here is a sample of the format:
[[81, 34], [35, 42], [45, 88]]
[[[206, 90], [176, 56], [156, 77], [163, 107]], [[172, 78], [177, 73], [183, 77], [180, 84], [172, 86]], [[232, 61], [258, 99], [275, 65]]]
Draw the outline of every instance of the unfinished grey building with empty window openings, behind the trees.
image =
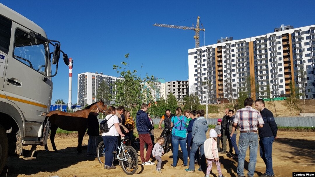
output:
[[188, 95], [189, 83], [188, 80], [176, 80], [165, 83], [165, 96], [173, 93], [178, 102], [182, 102], [184, 97]]

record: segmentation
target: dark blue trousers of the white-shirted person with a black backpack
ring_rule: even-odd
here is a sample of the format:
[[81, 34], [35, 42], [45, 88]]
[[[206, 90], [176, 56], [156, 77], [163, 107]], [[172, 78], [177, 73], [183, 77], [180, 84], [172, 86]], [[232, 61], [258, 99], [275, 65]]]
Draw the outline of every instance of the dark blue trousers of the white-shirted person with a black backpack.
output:
[[[105, 165], [112, 166], [114, 154], [117, 150], [117, 136], [102, 136], [105, 145]], [[118, 152], [117, 152], [118, 153]]]

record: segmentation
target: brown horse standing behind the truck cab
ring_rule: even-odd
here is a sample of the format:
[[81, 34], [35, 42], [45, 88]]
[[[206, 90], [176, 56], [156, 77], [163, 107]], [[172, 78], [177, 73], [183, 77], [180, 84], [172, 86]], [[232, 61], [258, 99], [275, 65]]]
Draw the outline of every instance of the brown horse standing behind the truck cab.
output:
[[[47, 117], [49, 117], [51, 128], [50, 141], [55, 152], [58, 152], [54, 142], [58, 127], [62, 130], [78, 131], [79, 137], [77, 151], [78, 154], [82, 152], [81, 147], [83, 136], [86, 132], [86, 129], [88, 129], [88, 116], [89, 113], [96, 108], [98, 108], [101, 113], [105, 113], [107, 111], [107, 106], [104, 104], [103, 100], [100, 100], [99, 102], [95, 102], [85, 109], [76, 111], [74, 113], [50, 111], [47, 114]], [[47, 145], [45, 145], [45, 149], [46, 151], [49, 151]]]

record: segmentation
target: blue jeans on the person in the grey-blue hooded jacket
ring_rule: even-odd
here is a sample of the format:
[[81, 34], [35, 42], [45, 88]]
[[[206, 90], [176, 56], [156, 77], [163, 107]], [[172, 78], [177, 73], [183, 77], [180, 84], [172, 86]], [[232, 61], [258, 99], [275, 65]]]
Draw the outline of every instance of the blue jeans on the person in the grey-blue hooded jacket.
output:
[[189, 167], [188, 169], [195, 170], [195, 154], [200, 148], [200, 156], [201, 156], [201, 162], [200, 162], [200, 169], [202, 171], [206, 170], [206, 157], [204, 156], [204, 144], [198, 144], [198, 143], [192, 143], [192, 148], [190, 149], [189, 154]]

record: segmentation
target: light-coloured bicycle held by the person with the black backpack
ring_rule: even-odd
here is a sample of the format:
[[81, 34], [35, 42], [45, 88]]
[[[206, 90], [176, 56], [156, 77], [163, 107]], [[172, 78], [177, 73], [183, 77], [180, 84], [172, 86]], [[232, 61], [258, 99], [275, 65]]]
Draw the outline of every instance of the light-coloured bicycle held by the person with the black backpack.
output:
[[[126, 144], [129, 144], [129, 137], [121, 137], [120, 140], [121, 145], [118, 147], [119, 152], [112, 152], [116, 154], [114, 158], [115, 160], [119, 160], [119, 164], [126, 174], [134, 174], [138, 169], [138, 154], [135, 148], [126, 146]], [[97, 146], [96, 153], [98, 161], [105, 163], [105, 145], [103, 141]]]

